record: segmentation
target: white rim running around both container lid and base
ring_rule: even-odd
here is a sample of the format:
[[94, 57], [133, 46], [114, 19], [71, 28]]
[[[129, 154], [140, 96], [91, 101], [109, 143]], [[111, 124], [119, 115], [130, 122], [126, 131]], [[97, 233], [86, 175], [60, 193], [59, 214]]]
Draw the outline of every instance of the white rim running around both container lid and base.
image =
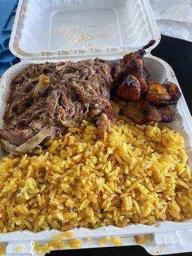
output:
[[[17, 63], [16, 65], [13, 65], [13, 67], [9, 68], [4, 72], [3, 76], [0, 80], [0, 101], [1, 106], [3, 106], [0, 109], [0, 120], [2, 120], [4, 106], [6, 104], [6, 99], [8, 97], [9, 88], [7, 87], [8, 84], [10, 84], [10, 81], [13, 79], [15, 74], [21, 70], [24, 65], [28, 65], [29, 63], [40, 63], [44, 61], [60, 61], [62, 60], [72, 60], [76, 61], [83, 58], [94, 58], [94, 54], [78, 54], [74, 56], [66, 56], [61, 54], [56, 54], [52, 56], [33, 56], [32, 58], [29, 58], [29, 56], [22, 56], [19, 54], [19, 52], [15, 51], [17, 48], [17, 45], [15, 46], [15, 38], [18, 37], [18, 24], [20, 19], [22, 18], [22, 15], [24, 15], [23, 3], [26, 3], [28, 0], [20, 0], [19, 7], [17, 10], [17, 14], [15, 16], [15, 22], [13, 25], [13, 32], [12, 32], [12, 38], [10, 40], [10, 49], [16, 56], [19, 56], [22, 61], [20, 63]], [[138, 0], [140, 1], [140, 0]], [[148, 13], [152, 15], [152, 19], [150, 20], [150, 25], [155, 31], [156, 34], [156, 40], [157, 43], [159, 43], [160, 40], [160, 34], [159, 30], [157, 29], [156, 22], [154, 21], [153, 13], [150, 8], [150, 5], [148, 3], [148, 0], [141, 0], [142, 3], [145, 3]], [[15, 48], [16, 47], [16, 48]], [[132, 49], [130, 49], [131, 51]], [[128, 51], [128, 50], [127, 50]], [[115, 52], [115, 54], [109, 54], [106, 58], [106, 54], [103, 54], [103, 52], [99, 52], [97, 55], [99, 58], [104, 58], [107, 60], [115, 60], [118, 58], [122, 58], [122, 54], [124, 54], [124, 51], [122, 52]], [[49, 55], [49, 54], [48, 54]], [[150, 51], [147, 53], [147, 56], [145, 58], [146, 61], [154, 61], [154, 67], [160, 68], [161, 66], [164, 68], [164, 72], [166, 74], [166, 77], [168, 77], [169, 81], [172, 81], [173, 83], [176, 83], [178, 86], [177, 78], [175, 77], [175, 74], [165, 61], [156, 58], [155, 56], [152, 56], [150, 54]], [[147, 62], [146, 62], [147, 63]], [[161, 67], [161, 68], [162, 68]], [[160, 69], [161, 69], [160, 68]], [[159, 72], [159, 71], [158, 71]], [[157, 73], [158, 73], [157, 72]], [[163, 72], [163, 69], [162, 69]], [[161, 72], [160, 72], [161, 73]], [[159, 74], [159, 73], [158, 73]], [[158, 75], [157, 74], [157, 75]], [[162, 74], [159, 74], [159, 76], [163, 76]], [[180, 86], [179, 86], [180, 88]], [[176, 131], [180, 131], [180, 133], [186, 138], [186, 150], [189, 154], [189, 162], [192, 161], [192, 152], [191, 152], [191, 146], [192, 146], [192, 119], [191, 115], [189, 113], [188, 106], [186, 104], [186, 100], [184, 99], [184, 96], [180, 98], [178, 104], [177, 104], [177, 115], [179, 117], [179, 122], [173, 124], [173, 128]], [[1, 122], [2, 123], [2, 122]], [[175, 125], [175, 126], [174, 126]], [[191, 163], [189, 163], [190, 166]], [[82, 248], [96, 248], [99, 247], [99, 240], [101, 237], [104, 236], [119, 236], [122, 239], [122, 245], [136, 245], [136, 242], [134, 240], [134, 236], [137, 235], [143, 235], [143, 234], [154, 234], [154, 239], [152, 241], [149, 241], [148, 244], [142, 244], [143, 248], [147, 250], [148, 253], [152, 255], [165, 255], [168, 253], [179, 253], [179, 252], [191, 252], [192, 251], [192, 244], [190, 241], [192, 240], [192, 220], [186, 220], [182, 222], [173, 222], [173, 221], [163, 221], [163, 222], [157, 222], [154, 225], [141, 225], [141, 224], [130, 224], [127, 225], [125, 228], [118, 228], [118, 227], [100, 227], [95, 230], [88, 229], [88, 228], [74, 228], [71, 230], [76, 234], [76, 238], [83, 240], [83, 246]], [[36, 251], [33, 250], [33, 242], [34, 241], [50, 241], [53, 236], [56, 234], [60, 234], [61, 232], [58, 230], [49, 230], [49, 231], [42, 231], [38, 233], [29, 232], [28, 230], [23, 231], [17, 231], [17, 232], [10, 232], [7, 234], [0, 234], [0, 242], [6, 243], [6, 255], [37, 255]], [[86, 237], [92, 237], [91, 243], [86, 242]], [[17, 252], [17, 246], [22, 245], [24, 246], [24, 250], [20, 253]], [[111, 244], [106, 244], [106, 246], [111, 246]]]

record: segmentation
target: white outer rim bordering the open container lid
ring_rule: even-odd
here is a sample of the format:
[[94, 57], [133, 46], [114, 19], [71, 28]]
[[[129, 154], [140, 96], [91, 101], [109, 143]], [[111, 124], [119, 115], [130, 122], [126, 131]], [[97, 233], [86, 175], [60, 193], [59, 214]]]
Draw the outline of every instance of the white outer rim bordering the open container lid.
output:
[[[143, 8], [145, 9], [145, 14], [147, 14], [147, 19], [149, 20], [149, 24], [150, 24], [150, 29], [152, 29], [152, 38], [156, 40], [156, 43], [154, 45], [152, 45], [151, 47], [149, 47], [148, 49], [146, 49], [147, 54], [150, 53], [150, 51], [152, 51], [152, 49], [154, 49], [159, 42], [161, 41], [161, 34], [159, 31], [159, 28], [157, 26], [157, 22], [156, 19], [154, 17], [154, 12], [152, 10], [152, 7], [150, 5], [149, 0], [140, 0], [141, 3], [143, 4]], [[81, 51], [81, 49], [77, 49], [74, 50], [73, 53], [70, 53], [68, 51], [67, 54], [65, 54], [65, 49], [58, 49], [56, 51], [39, 51], [39, 52], [25, 52], [22, 49], [19, 49], [18, 47], [18, 42], [15, 42], [16, 37], [17, 37], [17, 30], [18, 30], [18, 25], [19, 25], [19, 20], [20, 20], [20, 16], [24, 14], [25, 12], [25, 6], [24, 3], [28, 3], [28, 0], [19, 0], [19, 4], [17, 6], [17, 12], [15, 15], [15, 20], [13, 22], [13, 28], [12, 28], [12, 34], [10, 36], [10, 43], [9, 43], [9, 47], [10, 47], [10, 51], [12, 52], [12, 54], [14, 56], [17, 56], [18, 58], [20, 58], [21, 61], [30, 61], [30, 60], [47, 60], [48, 58], [54, 60], [54, 59], [63, 59], [63, 58], [67, 58], [67, 59], [76, 59], [76, 58], [95, 58], [97, 57], [97, 55], [103, 54], [105, 56], [111, 56], [113, 54], [117, 55], [117, 54], [126, 54], [127, 52], [131, 52], [131, 51], [135, 51], [136, 49], [134, 49], [134, 47], [124, 47], [125, 49], [127, 48], [127, 50], [120, 50], [120, 51], [116, 51], [116, 52], [102, 52], [103, 49], [87, 49], [85, 51]], [[18, 40], [18, 38], [17, 38]], [[112, 47], [113, 48], [113, 47]], [[121, 47], [120, 47], [121, 48]], [[105, 48], [106, 50], [108, 50], [107, 48]], [[118, 49], [118, 47], [117, 47]], [[100, 52], [97, 52], [97, 51]], [[58, 52], [63, 52], [63, 54], [61, 53], [61, 55], [57, 54]], [[76, 52], [78, 52], [76, 54]], [[84, 53], [81, 53], [84, 52]], [[51, 53], [51, 55], [49, 55]], [[34, 54], [34, 55], [33, 55]]]

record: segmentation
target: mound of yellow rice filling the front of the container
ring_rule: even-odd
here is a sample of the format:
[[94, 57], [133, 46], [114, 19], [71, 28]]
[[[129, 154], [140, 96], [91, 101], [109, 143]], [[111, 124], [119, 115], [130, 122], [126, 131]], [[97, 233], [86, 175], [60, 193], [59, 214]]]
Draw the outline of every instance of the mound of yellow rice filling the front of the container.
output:
[[184, 139], [162, 124], [120, 119], [101, 135], [83, 121], [46, 145], [33, 155], [3, 157], [0, 232], [192, 217]]

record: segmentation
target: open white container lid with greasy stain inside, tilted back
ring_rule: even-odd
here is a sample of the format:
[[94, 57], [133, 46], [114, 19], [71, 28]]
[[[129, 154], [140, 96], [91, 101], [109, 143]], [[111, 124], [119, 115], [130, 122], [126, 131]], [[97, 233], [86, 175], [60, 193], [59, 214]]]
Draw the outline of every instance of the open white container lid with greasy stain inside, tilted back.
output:
[[20, 0], [10, 51], [21, 60], [120, 56], [161, 39], [148, 0]]

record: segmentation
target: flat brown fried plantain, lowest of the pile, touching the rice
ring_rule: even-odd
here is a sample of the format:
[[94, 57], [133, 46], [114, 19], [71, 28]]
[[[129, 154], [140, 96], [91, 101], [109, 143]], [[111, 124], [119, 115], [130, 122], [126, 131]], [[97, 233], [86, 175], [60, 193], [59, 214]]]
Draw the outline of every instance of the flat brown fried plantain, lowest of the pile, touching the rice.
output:
[[156, 107], [145, 100], [127, 102], [121, 111], [122, 115], [127, 116], [136, 124], [148, 124], [150, 122], [160, 122], [161, 113]]

